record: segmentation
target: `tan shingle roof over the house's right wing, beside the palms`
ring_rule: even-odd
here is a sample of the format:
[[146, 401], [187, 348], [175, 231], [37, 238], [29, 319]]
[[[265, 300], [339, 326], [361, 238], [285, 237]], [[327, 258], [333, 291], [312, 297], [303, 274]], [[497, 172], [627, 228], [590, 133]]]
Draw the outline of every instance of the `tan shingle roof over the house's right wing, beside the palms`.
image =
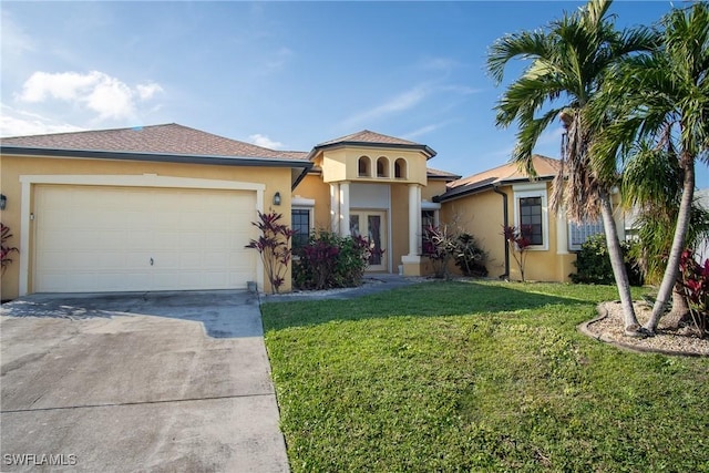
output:
[[[552, 157], [535, 154], [532, 156], [532, 164], [536, 171], [536, 178], [548, 181], [554, 178], [561, 169], [562, 162]], [[438, 202], [451, 200], [470, 194], [487, 191], [503, 184], [530, 181], [526, 172], [520, 169], [516, 163], [507, 163], [472, 176], [453, 181], [446, 185], [448, 191], [438, 196]]]

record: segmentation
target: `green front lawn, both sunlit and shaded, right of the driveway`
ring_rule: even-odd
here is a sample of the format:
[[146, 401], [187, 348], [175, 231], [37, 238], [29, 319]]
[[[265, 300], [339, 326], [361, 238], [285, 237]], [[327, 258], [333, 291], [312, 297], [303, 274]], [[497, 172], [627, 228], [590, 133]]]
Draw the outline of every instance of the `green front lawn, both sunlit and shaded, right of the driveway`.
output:
[[427, 282], [265, 304], [292, 471], [709, 472], [709, 359], [576, 330], [616, 298]]

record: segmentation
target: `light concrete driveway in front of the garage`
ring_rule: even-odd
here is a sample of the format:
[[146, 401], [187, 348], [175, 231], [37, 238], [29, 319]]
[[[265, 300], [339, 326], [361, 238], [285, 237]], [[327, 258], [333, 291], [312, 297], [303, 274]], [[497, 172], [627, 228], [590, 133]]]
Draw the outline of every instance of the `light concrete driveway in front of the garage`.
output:
[[255, 295], [33, 295], [0, 346], [0, 471], [288, 471]]

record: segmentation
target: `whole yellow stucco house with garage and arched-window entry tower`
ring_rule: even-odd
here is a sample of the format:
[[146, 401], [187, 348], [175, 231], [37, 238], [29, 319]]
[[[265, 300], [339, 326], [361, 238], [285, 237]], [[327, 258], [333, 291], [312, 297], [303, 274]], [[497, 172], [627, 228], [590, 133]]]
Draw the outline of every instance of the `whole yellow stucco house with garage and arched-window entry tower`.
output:
[[250, 281], [268, 290], [258, 254], [245, 248], [257, 236], [257, 210], [282, 214], [297, 235], [367, 236], [383, 250], [369, 270], [405, 276], [432, 271], [422, 228], [455, 222], [487, 251], [491, 277], [515, 279], [502, 232], [524, 225], [534, 235], [527, 279], [567, 280], [574, 250], [598, 228], [549, 213], [557, 161], [535, 156], [535, 181], [513, 165], [461, 178], [430, 167], [434, 156], [427, 145], [370, 131], [310, 152], [178, 124], [2, 138], [1, 219], [20, 250], [2, 277], [2, 298]]

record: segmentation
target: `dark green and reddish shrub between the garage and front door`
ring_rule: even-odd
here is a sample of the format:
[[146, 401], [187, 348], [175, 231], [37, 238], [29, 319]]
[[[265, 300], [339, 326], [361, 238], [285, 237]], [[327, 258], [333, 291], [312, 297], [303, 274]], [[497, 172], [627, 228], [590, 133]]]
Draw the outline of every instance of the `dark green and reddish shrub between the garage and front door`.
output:
[[341, 237], [328, 230], [310, 235], [298, 248], [292, 279], [297, 289], [330, 289], [362, 284], [372, 250], [361, 237]]

